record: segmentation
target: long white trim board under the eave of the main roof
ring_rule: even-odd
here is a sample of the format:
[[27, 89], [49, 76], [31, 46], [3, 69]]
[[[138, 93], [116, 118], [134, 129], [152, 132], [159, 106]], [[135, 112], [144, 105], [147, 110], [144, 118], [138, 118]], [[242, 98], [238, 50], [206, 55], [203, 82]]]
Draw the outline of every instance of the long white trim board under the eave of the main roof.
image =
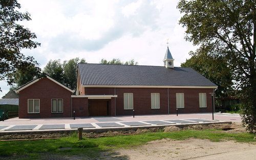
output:
[[82, 85], [82, 87], [116, 87], [116, 88], [215, 88], [217, 89], [218, 86], [164, 86], [164, 85]]

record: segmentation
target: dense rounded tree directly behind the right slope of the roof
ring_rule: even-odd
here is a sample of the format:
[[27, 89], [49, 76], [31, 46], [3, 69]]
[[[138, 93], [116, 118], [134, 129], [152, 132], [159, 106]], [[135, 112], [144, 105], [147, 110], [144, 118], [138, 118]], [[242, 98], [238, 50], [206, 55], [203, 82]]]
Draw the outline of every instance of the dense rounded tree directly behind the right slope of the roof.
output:
[[233, 91], [233, 79], [227, 60], [224, 57], [208, 55], [209, 50], [211, 48], [206, 47], [200, 48], [196, 52], [190, 52], [192, 57], [181, 63], [181, 66], [193, 68], [218, 85], [218, 89], [215, 92], [217, 98], [230, 96]]

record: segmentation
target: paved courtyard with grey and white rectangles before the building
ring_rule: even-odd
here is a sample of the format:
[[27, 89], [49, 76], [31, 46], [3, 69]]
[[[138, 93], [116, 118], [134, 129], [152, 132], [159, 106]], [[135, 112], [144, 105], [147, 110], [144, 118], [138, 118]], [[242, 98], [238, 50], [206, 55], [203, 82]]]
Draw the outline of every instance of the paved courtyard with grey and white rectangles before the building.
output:
[[169, 126], [184, 124], [203, 124], [219, 122], [241, 122], [237, 114], [195, 113], [181, 115], [148, 115], [148, 116], [117, 116], [117, 117], [86, 117], [86, 118], [52, 118], [52, 119], [18, 119], [13, 118], [0, 122], [0, 132], [39, 131], [39, 130], [76, 130], [102, 128], [132, 128], [144, 126]]

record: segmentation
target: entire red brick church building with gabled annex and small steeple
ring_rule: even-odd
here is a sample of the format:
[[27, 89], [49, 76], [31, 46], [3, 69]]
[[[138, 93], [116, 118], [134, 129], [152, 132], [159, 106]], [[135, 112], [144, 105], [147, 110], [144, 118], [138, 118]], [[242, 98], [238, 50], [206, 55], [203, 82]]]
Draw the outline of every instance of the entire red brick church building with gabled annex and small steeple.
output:
[[[211, 112], [217, 86], [188, 67], [78, 64], [76, 92], [50, 76], [18, 88], [19, 118]], [[73, 93], [75, 92], [75, 95]]]

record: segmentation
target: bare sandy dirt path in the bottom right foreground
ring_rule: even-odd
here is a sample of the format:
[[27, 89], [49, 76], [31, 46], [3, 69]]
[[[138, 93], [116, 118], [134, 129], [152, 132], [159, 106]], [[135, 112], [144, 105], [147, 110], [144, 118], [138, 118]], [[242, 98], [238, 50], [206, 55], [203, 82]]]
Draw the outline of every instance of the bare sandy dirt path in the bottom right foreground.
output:
[[157, 140], [133, 149], [121, 149], [118, 156], [128, 159], [255, 159], [256, 145], [233, 141], [210, 142], [189, 139], [173, 141]]

